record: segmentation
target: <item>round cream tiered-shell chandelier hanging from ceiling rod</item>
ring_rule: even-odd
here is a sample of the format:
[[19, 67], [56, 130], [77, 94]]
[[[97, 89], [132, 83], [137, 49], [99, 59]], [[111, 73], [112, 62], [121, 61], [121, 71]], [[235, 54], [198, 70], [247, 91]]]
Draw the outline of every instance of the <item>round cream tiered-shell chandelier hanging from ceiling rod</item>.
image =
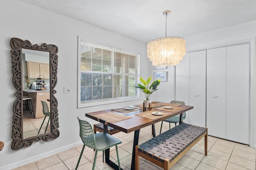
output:
[[[163, 15], [167, 16], [170, 11], [164, 11]], [[152, 61], [153, 66], [171, 66], [178, 65], [180, 60], [186, 54], [186, 41], [180, 37], [165, 37], [152, 40], [148, 43], [148, 58]]]

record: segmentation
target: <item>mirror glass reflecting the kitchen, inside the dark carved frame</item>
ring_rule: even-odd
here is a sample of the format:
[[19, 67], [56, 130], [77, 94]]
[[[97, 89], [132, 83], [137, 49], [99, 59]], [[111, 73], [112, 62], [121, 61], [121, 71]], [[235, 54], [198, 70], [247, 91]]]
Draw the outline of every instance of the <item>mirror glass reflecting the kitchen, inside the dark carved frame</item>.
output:
[[23, 138], [50, 132], [49, 56], [47, 51], [22, 49]]

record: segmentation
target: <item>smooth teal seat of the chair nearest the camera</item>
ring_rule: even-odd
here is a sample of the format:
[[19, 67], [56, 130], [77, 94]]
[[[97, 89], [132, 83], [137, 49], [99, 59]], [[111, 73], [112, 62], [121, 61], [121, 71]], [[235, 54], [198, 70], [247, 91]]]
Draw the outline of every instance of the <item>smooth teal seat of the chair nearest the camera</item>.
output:
[[115, 146], [116, 144], [122, 143], [121, 140], [104, 132], [95, 134], [95, 140], [97, 147], [96, 150], [98, 151], [106, 150], [107, 148]]

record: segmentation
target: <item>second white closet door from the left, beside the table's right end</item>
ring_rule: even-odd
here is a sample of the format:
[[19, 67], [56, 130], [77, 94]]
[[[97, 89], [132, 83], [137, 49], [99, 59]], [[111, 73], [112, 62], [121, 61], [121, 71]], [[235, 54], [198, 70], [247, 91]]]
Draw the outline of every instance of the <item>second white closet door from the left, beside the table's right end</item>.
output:
[[189, 124], [206, 126], [206, 50], [189, 54]]

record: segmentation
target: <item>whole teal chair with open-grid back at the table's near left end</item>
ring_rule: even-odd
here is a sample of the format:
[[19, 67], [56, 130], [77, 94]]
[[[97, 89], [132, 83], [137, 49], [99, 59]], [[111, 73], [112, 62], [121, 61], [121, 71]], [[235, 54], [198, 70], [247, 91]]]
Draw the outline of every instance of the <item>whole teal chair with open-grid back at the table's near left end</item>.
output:
[[94, 156], [94, 162], [92, 169], [94, 170], [95, 164], [96, 164], [96, 158], [98, 151], [103, 151], [103, 162], [104, 162], [104, 150], [111, 148], [112, 146], [116, 146], [116, 155], [118, 160], [118, 167], [120, 170], [120, 160], [118, 155], [118, 147], [117, 145], [122, 143], [121, 140], [111, 136], [108, 133], [100, 132], [94, 134], [92, 130], [92, 126], [87, 121], [81, 120], [79, 117], [77, 117], [80, 125], [80, 137], [82, 139], [82, 142], [84, 143], [84, 146], [82, 148], [80, 157], [78, 159], [78, 162], [76, 164], [76, 169], [78, 168], [80, 159], [82, 157], [82, 154], [84, 152], [84, 147], [88, 146], [89, 148], [95, 149], [95, 156]]

